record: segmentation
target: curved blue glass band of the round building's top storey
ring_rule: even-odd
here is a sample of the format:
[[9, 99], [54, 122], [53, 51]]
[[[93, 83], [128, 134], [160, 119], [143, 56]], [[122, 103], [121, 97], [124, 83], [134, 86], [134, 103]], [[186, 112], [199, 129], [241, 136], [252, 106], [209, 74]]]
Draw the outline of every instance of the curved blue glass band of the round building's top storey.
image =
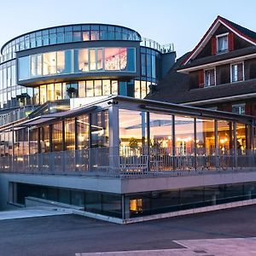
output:
[[104, 24], [57, 26], [26, 33], [9, 41], [1, 49], [2, 61], [15, 58], [15, 52], [24, 49], [98, 40], [141, 41], [142, 38], [138, 32], [123, 26]]

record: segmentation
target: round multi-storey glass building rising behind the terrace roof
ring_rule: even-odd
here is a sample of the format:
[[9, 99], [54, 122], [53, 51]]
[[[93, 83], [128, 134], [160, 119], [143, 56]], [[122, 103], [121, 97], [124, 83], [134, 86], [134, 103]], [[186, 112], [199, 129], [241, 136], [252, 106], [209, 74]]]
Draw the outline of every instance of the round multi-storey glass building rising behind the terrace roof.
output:
[[175, 61], [172, 44], [161, 47], [129, 28], [99, 24], [29, 32], [1, 53], [2, 109], [70, 97], [143, 98], [162, 77], [162, 59], [170, 67]]

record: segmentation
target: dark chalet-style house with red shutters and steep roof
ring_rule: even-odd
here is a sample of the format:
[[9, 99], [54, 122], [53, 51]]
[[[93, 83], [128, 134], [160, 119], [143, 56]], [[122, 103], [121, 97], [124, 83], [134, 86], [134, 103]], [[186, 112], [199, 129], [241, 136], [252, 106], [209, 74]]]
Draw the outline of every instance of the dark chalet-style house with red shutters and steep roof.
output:
[[148, 97], [256, 115], [256, 32], [218, 16]]

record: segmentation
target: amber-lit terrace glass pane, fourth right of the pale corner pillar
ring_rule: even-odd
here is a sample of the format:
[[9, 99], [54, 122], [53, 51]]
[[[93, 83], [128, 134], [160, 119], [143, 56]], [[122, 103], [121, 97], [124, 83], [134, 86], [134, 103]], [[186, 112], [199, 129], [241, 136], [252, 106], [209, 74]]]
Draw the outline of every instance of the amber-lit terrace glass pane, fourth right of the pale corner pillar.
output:
[[196, 154], [213, 154], [215, 148], [214, 120], [196, 119]]

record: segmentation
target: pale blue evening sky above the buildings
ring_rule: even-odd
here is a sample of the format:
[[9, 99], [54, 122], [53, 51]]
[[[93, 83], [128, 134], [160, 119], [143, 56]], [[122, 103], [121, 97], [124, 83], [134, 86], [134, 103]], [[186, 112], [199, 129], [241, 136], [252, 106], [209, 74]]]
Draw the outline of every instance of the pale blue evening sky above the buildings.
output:
[[256, 31], [255, 0], [3, 0], [0, 44], [24, 32], [69, 23], [131, 27], [177, 55], [193, 49], [217, 15]]

